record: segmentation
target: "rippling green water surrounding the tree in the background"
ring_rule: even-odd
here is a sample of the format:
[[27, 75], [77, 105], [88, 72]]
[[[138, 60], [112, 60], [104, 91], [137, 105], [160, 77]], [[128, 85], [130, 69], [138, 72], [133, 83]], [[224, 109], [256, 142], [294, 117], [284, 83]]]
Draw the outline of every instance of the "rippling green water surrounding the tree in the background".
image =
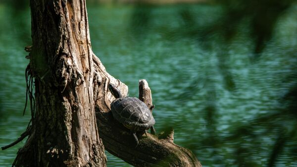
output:
[[[0, 3], [0, 146], [30, 117], [30, 9], [16, 6]], [[262, 15], [226, 6], [92, 4], [92, 48], [130, 96], [148, 80], [157, 132], [173, 126], [203, 167], [297, 167], [297, 4]], [[24, 142], [0, 151], [0, 167]], [[106, 155], [108, 167], [130, 167]]]

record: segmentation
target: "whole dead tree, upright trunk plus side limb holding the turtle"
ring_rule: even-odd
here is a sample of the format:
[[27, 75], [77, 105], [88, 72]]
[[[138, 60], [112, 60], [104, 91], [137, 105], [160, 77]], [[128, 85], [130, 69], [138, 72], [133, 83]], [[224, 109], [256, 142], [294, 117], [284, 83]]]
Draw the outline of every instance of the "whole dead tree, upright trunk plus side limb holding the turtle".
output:
[[[173, 143], [173, 129], [140, 137], [134, 148], [129, 130], [112, 119], [108, 84], [123, 95], [128, 87], [109, 75], [91, 50], [85, 0], [30, 0], [30, 5], [33, 48], [27, 48], [26, 78], [32, 118], [16, 142], [2, 147], [29, 135], [13, 166], [105, 167], [105, 147], [136, 167], [202, 167], [190, 150]], [[139, 97], [152, 111], [146, 82]]]

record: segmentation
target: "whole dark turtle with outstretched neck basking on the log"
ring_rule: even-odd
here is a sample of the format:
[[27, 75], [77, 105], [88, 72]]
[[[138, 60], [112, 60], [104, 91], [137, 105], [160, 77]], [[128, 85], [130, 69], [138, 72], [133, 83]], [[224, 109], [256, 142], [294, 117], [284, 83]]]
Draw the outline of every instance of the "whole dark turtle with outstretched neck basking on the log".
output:
[[144, 102], [138, 98], [124, 97], [113, 84], [109, 84], [108, 88], [116, 98], [110, 104], [112, 116], [130, 130], [136, 142], [136, 147], [139, 143], [137, 132], [145, 132], [147, 135], [147, 130], [150, 129], [151, 134], [156, 134], [153, 127], [155, 119]]

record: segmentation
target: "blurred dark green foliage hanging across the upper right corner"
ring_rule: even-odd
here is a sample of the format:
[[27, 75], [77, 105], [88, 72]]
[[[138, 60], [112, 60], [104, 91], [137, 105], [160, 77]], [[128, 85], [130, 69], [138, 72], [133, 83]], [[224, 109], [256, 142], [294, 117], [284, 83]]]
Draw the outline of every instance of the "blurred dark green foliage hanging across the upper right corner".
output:
[[[225, 43], [232, 40], [238, 33], [239, 24], [242, 21], [249, 22], [250, 35], [254, 40], [254, 55], [259, 54], [271, 39], [274, 26], [279, 16], [291, 6], [293, 0], [214, 0], [219, 4], [223, 13], [210, 24], [201, 27], [197, 24], [197, 17], [185, 7], [180, 15], [185, 22], [185, 34], [190, 38], [197, 36], [198, 40], [205, 45], [205, 39], [214, 33], [221, 34]], [[198, 16], [199, 17], [199, 16]], [[183, 32], [178, 30], [178, 32]], [[207, 45], [207, 44], [206, 44]]]

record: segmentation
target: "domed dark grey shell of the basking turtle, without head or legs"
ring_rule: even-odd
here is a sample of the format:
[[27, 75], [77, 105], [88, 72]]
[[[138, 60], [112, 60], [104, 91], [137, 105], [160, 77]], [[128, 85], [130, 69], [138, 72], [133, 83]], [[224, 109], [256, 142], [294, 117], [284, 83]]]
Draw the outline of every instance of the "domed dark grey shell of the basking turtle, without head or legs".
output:
[[147, 105], [137, 98], [118, 98], [110, 107], [113, 117], [128, 128], [146, 130], [155, 124]]

